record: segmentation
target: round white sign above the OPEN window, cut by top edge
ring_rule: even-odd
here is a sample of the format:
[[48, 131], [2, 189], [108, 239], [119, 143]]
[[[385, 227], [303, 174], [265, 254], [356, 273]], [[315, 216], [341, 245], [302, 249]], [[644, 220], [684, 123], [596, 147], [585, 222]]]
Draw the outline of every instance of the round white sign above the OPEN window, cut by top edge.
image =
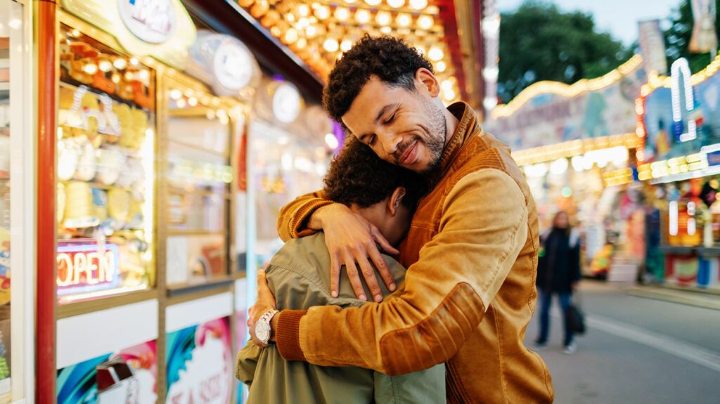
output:
[[120, 18], [133, 35], [145, 42], [169, 40], [175, 29], [175, 12], [170, 0], [118, 0]]

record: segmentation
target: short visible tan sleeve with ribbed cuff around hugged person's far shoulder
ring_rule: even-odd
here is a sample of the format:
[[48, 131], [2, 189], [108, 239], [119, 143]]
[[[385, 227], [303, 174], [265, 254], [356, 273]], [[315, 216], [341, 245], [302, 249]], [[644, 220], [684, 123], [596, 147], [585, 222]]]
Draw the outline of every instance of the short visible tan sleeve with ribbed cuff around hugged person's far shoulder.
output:
[[323, 198], [322, 191], [317, 191], [299, 196], [283, 206], [277, 216], [277, 232], [282, 241], [315, 234], [315, 230], [307, 228], [307, 219], [319, 208], [330, 203], [333, 201]]

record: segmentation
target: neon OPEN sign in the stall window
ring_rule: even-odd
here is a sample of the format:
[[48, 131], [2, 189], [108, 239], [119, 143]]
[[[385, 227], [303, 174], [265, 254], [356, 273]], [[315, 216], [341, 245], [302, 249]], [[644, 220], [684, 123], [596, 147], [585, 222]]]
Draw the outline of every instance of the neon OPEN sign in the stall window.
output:
[[58, 247], [58, 295], [112, 289], [118, 283], [117, 245]]

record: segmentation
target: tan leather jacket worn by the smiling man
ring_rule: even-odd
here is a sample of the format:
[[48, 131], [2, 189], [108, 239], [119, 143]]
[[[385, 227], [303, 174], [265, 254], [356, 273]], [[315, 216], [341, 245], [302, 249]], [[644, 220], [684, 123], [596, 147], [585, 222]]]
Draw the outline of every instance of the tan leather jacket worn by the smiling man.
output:
[[[510, 150], [482, 132], [464, 103], [434, 188], [400, 248], [405, 285], [383, 303], [282, 311], [285, 359], [398, 375], [446, 362], [448, 403], [551, 403], [550, 375], [523, 345], [536, 303], [535, 202]], [[320, 193], [286, 206], [281, 237], [312, 231]]]

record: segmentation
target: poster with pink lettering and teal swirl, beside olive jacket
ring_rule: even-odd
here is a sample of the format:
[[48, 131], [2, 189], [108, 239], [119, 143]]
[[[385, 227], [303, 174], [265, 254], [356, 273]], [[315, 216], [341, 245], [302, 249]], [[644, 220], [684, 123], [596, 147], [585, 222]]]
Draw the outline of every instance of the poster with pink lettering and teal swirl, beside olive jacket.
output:
[[228, 403], [235, 365], [229, 317], [169, 333], [166, 359], [166, 403]]

